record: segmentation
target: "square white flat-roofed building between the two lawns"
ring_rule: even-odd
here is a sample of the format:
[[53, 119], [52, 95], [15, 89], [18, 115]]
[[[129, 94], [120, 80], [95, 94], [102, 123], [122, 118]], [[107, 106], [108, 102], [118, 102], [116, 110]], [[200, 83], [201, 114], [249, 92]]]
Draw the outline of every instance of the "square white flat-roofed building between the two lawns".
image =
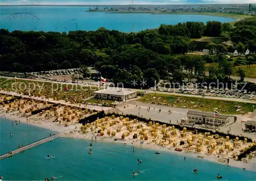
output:
[[94, 97], [101, 99], [125, 101], [137, 96], [137, 91], [123, 88], [107, 88], [93, 92]]

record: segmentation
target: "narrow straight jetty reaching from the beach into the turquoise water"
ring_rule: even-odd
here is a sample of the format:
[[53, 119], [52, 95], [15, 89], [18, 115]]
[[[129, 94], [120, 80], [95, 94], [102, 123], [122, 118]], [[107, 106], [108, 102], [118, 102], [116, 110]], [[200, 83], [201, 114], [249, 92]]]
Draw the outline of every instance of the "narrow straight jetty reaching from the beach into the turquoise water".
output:
[[35, 146], [44, 144], [44, 143], [46, 143], [48, 141], [55, 140], [55, 139], [59, 138], [62, 134], [63, 134], [63, 132], [59, 133], [57, 135], [54, 135], [54, 136], [51, 136], [51, 137], [48, 137], [48, 138], [36, 141], [36, 142], [31, 143], [29, 145], [23, 146], [21, 148], [15, 149], [15, 150], [12, 151], [12, 154], [9, 154], [9, 153], [3, 154], [2, 156], [0, 156], [0, 160], [3, 160], [5, 158], [11, 157], [11, 156], [14, 156], [14, 154], [18, 154], [19, 152], [26, 151], [26, 150], [28, 150], [30, 148], [33, 148]]

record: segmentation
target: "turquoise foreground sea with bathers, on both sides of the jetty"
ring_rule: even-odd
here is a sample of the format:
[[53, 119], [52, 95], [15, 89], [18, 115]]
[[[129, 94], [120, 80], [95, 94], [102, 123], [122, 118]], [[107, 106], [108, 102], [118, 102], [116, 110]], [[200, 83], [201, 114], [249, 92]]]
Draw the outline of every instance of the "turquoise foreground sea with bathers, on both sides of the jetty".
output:
[[[0, 118], [0, 152], [15, 148], [20, 141], [26, 143], [44, 138], [49, 130], [20, 123], [12, 129], [10, 120]], [[19, 135], [18, 137], [15, 135]], [[13, 144], [13, 146], [11, 146]], [[43, 180], [51, 175], [55, 180], [216, 180], [217, 173], [224, 180], [255, 180], [256, 172], [227, 167], [203, 159], [184, 157], [154, 150], [136, 148], [131, 145], [93, 142], [92, 154], [88, 154], [90, 141], [58, 138], [52, 142], [19, 153], [0, 161], [0, 175], [4, 180]], [[8, 147], [8, 149], [6, 149]], [[46, 159], [47, 154], [55, 159]], [[137, 159], [143, 160], [141, 164]], [[192, 170], [198, 167], [198, 173]], [[140, 174], [132, 175], [133, 170]]]

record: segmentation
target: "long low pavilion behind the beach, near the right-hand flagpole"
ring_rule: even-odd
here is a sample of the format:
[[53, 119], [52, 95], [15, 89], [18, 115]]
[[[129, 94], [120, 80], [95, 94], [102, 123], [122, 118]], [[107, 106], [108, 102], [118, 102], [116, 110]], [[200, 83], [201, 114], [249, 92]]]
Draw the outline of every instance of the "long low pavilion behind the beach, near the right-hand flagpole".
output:
[[[188, 111], [187, 118], [192, 122], [200, 122], [203, 124], [214, 124], [214, 112]], [[237, 117], [229, 115], [218, 115], [215, 117], [215, 125], [223, 125], [236, 122]]]

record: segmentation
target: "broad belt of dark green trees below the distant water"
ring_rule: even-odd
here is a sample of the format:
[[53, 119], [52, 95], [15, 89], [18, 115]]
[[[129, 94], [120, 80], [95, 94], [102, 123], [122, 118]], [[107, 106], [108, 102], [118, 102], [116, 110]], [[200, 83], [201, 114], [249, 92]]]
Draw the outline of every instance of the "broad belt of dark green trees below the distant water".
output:
[[[161, 24], [158, 29], [122, 33], [99, 28], [96, 31], [35, 32], [0, 30], [0, 71], [33, 72], [94, 66], [106, 79], [122, 82], [147, 81], [147, 87], [159, 79], [175, 82], [226, 79], [233, 62], [224, 53], [246, 48], [256, 51], [255, 18], [237, 21], [234, 26], [219, 21]], [[221, 37], [233, 45], [199, 43], [193, 38]], [[188, 55], [198, 49], [216, 50], [217, 55]], [[247, 56], [253, 64], [255, 56]], [[218, 62], [207, 68], [205, 63]], [[244, 61], [237, 61], [240, 65]], [[255, 62], [254, 62], [255, 63]], [[140, 87], [140, 85], [138, 85]]]

